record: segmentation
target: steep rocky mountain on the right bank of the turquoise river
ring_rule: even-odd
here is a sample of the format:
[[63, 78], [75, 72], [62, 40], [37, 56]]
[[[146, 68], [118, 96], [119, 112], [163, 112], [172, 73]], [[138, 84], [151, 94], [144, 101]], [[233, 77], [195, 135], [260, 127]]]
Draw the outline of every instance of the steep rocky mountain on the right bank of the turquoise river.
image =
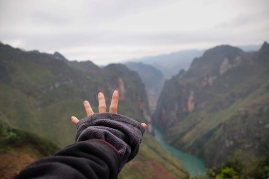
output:
[[210, 167], [237, 150], [252, 156], [269, 150], [268, 57], [266, 42], [252, 53], [219, 46], [165, 81], [153, 119], [166, 141]]

